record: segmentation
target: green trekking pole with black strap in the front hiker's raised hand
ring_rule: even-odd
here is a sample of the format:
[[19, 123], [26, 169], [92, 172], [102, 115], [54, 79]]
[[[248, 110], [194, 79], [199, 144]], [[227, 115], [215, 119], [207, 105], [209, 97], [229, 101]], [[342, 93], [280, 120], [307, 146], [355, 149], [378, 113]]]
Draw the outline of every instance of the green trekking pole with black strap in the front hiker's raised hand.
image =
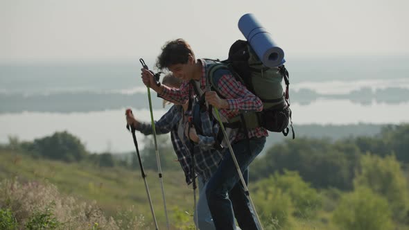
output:
[[[143, 69], [146, 69], [149, 71], [148, 66], [145, 64], [145, 61], [143, 61], [142, 58], [139, 58], [139, 62], [141, 62]], [[155, 74], [154, 74], [155, 75]], [[164, 209], [165, 209], [165, 216], [166, 216], [166, 227], [169, 230], [169, 219], [168, 219], [168, 211], [166, 209], [166, 200], [165, 200], [165, 190], [164, 190], [164, 181], [162, 179], [162, 168], [160, 166], [160, 158], [159, 158], [159, 152], [157, 150], [157, 141], [156, 141], [156, 129], [155, 129], [155, 121], [153, 120], [153, 111], [152, 111], [152, 100], [150, 99], [150, 88], [146, 87], [148, 89], [148, 100], [149, 100], [149, 110], [150, 110], [150, 122], [152, 123], [152, 133], [153, 133], [153, 140], [155, 142], [155, 153], [156, 153], [156, 163], [157, 163], [157, 170], [159, 173], [159, 181], [161, 184], [162, 188], [162, 198], [164, 200]]]

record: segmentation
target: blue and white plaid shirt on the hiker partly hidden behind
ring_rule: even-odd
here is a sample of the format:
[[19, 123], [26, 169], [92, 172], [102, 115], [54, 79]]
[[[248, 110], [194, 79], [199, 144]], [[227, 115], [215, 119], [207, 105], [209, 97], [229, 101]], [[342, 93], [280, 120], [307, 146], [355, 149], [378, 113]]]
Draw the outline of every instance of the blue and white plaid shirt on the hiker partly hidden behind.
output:
[[[186, 115], [189, 116], [191, 115], [190, 113], [191, 112], [187, 112]], [[171, 132], [173, 149], [177, 155], [177, 160], [180, 162], [180, 166], [182, 166], [187, 184], [191, 184], [192, 182], [192, 150], [195, 160], [195, 174], [200, 175], [204, 181], [207, 181], [207, 179], [209, 179], [216, 171], [223, 156], [220, 151], [214, 150], [213, 148], [215, 141], [214, 133], [218, 132], [218, 126], [212, 124], [208, 113], [203, 115], [204, 116], [201, 116], [203, 135], [198, 135], [200, 141], [198, 144], [194, 145], [191, 144], [186, 136], [183, 136], [183, 139], [180, 139], [177, 134], [179, 125], [183, 125], [183, 130], [185, 125], [180, 123], [184, 116], [182, 106], [173, 105], [171, 109], [159, 119], [159, 121], [155, 121], [155, 130], [157, 134]], [[135, 129], [145, 135], [152, 134], [152, 126], [150, 123], [140, 123]]]

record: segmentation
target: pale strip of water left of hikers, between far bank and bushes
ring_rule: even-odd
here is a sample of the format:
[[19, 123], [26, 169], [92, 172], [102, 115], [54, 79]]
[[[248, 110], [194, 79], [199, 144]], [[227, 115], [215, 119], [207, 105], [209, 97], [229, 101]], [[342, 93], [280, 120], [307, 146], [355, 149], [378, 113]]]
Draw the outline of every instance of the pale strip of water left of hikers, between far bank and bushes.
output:
[[[159, 119], [166, 110], [157, 109], [154, 118]], [[148, 109], [134, 110], [141, 121], [150, 122]], [[33, 140], [49, 136], [56, 131], [67, 130], [78, 136], [92, 152], [129, 152], [134, 150], [132, 135], [126, 130], [125, 108], [100, 112], [21, 112], [0, 115], [0, 142], [7, 143], [8, 136], [18, 136], [20, 140]], [[143, 148], [143, 135], [137, 134]]]

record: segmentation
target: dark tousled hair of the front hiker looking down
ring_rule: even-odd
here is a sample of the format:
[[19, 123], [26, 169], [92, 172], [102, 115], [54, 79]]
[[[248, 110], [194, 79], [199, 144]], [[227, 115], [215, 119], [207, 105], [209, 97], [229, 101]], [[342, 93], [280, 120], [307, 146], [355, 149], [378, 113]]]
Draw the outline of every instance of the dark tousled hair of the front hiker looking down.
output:
[[175, 39], [162, 47], [162, 53], [157, 57], [156, 67], [165, 69], [173, 64], [186, 64], [189, 55], [195, 58], [191, 46], [184, 39]]

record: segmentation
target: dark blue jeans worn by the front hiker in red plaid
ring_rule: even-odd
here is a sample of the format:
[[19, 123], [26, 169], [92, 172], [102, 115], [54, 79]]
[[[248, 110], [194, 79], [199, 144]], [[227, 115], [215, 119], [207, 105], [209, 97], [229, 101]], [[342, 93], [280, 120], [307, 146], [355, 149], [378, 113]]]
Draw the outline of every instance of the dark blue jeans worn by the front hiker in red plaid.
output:
[[[260, 137], [232, 144], [241, 172], [247, 170], [250, 163], [263, 150], [265, 143], [266, 137]], [[216, 229], [236, 229], [234, 215], [241, 229], [259, 229], [228, 148], [220, 166], [207, 182], [206, 197]]]

